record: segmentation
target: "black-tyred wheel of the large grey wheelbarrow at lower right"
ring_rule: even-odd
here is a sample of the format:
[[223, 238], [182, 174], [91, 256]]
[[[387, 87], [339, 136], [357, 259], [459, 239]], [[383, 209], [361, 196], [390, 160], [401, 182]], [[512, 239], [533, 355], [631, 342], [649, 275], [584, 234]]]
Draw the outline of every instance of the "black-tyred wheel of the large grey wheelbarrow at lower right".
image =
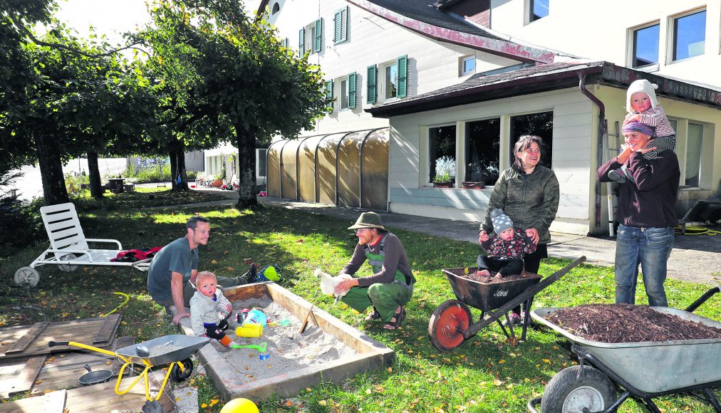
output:
[[583, 366], [583, 380], [578, 381], [580, 365], [559, 371], [548, 382], [541, 397], [541, 412], [604, 412], [616, 400], [616, 387], [601, 370]]

